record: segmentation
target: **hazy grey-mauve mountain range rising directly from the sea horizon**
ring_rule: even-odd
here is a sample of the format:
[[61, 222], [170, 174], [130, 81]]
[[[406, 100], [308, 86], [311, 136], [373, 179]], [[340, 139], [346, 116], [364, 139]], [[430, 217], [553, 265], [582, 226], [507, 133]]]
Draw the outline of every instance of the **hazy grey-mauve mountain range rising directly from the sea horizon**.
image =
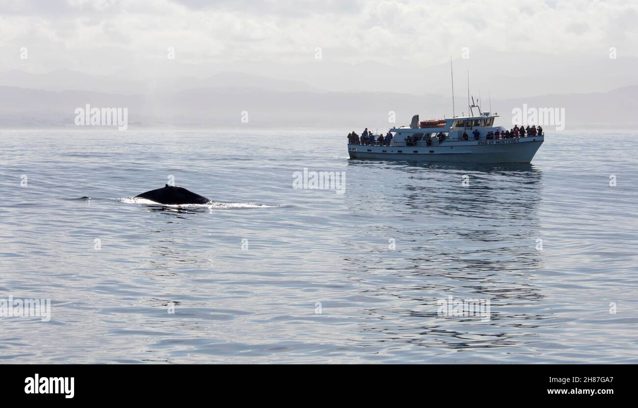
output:
[[[165, 77], [149, 85], [140, 78], [119, 80], [61, 70], [47, 74], [0, 73], [0, 128], [75, 126], [75, 109], [87, 103], [98, 108], [128, 108], [130, 128], [173, 126], [387, 129], [389, 112], [396, 124], [452, 115], [452, 98], [441, 94], [323, 91], [298, 80], [248, 73], [216, 73], [211, 77]], [[134, 92], [135, 91], [135, 92]], [[509, 126], [512, 109], [564, 108], [565, 129], [604, 125], [633, 126], [638, 112], [638, 86], [609, 92], [545, 94], [487, 98], [482, 110], [500, 113]], [[462, 96], [461, 96], [462, 95]], [[467, 113], [467, 96], [457, 92], [456, 113]], [[246, 113], [248, 123], [242, 122]]]

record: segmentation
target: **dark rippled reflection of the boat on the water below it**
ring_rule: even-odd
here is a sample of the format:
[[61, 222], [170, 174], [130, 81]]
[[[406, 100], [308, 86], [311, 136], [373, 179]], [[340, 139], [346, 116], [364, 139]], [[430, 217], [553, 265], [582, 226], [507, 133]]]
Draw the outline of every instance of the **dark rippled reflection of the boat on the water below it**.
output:
[[[363, 339], [370, 345], [390, 341], [461, 351], [533, 341], [535, 333], [517, 329], [535, 328], [551, 317], [521, 312], [534, 309], [544, 297], [534, 284], [534, 271], [542, 268], [542, 261], [530, 238], [540, 237], [542, 171], [531, 164], [348, 164], [383, 166], [387, 180], [396, 180], [393, 188], [398, 192], [384, 216], [410, 220], [400, 228], [378, 227], [396, 242], [409, 244], [396, 244], [391, 261], [381, 259], [375, 268], [387, 264], [396, 283], [371, 286], [366, 295], [395, 301], [362, 311]], [[352, 205], [360, 203], [353, 200]], [[370, 270], [367, 255], [346, 256], [344, 261], [348, 270]], [[369, 277], [353, 279], [365, 284]], [[438, 316], [438, 300], [449, 295], [489, 299], [491, 320]]]

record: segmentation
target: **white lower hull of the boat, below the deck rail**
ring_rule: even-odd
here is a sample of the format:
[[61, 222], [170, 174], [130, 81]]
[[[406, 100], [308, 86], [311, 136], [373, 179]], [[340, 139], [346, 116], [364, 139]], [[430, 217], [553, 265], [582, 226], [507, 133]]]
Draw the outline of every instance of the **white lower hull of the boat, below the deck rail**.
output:
[[351, 159], [442, 163], [530, 163], [544, 136], [497, 140], [446, 140], [435, 146], [366, 146], [348, 144]]

